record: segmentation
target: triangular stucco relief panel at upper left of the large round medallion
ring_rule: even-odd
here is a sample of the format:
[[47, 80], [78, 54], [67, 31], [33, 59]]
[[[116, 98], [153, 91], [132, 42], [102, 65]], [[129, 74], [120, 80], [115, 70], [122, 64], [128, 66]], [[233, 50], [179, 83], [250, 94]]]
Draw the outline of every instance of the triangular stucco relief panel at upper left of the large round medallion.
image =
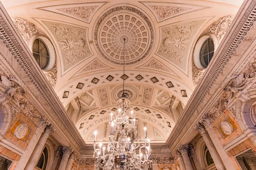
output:
[[81, 18], [85, 22], [89, 23], [97, 8], [98, 6], [80, 6], [73, 8], [60, 8], [58, 10], [68, 13], [71, 16]]

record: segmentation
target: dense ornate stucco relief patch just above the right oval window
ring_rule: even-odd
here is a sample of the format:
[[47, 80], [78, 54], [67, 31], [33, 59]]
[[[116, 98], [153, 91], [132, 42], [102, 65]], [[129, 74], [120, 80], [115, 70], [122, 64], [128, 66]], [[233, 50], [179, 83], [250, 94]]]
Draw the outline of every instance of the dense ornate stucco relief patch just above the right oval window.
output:
[[218, 41], [220, 41], [226, 34], [232, 20], [233, 18], [231, 16], [221, 17], [219, 20], [210, 25], [204, 34], [215, 34]]

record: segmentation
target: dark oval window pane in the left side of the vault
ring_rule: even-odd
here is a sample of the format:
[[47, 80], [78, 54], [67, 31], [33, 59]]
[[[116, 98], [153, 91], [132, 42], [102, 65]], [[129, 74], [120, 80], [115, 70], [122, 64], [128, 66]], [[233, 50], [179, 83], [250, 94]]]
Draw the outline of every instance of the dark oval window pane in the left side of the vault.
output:
[[50, 62], [50, 54], [47, 46], [40, 38], [37, 38], [33, 42], [32, 51], [40, 68], [41, 69], [47, 68]]

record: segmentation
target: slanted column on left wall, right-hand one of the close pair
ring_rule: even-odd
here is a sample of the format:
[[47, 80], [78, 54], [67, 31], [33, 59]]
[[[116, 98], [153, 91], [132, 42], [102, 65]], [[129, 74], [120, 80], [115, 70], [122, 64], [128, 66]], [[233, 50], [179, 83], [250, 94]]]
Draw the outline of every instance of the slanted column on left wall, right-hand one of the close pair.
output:
[[36, 163], [38, 162], [39, 156], [43, 150], [43, 147], [45, 145], [45, 142], [47, 140], [47, 138], [50, 136], [50, 134], [53, 132], [53, 127], [52, 125], [47, 125], [45, 127], [45, 131], [43, 133], [43, 135], [41, 136], [39, 143], [37, 145], [37, 148], [34, 151], [34, 154], [31, 158], [31, 160], [29, 161], [29, 165], [27, 166], [27, 170], [34, 170], [34, 167], [36, 165]]

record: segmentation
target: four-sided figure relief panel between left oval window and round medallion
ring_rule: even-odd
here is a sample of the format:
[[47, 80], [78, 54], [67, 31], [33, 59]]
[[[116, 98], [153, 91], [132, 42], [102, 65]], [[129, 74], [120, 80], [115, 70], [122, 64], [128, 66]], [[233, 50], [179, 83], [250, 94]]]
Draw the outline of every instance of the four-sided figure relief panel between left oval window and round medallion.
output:
[[58, 40], [64, 70], [92, 55], [87, 42], [87, 29], [72, 25], [43, 21]]

